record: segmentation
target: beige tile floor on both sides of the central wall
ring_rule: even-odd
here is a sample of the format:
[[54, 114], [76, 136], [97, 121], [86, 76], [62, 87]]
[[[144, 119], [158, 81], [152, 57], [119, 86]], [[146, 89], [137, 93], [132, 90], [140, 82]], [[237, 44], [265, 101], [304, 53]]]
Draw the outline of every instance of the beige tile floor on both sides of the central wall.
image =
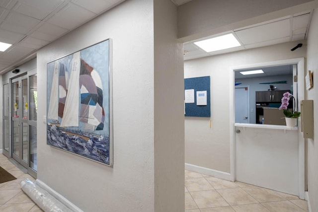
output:
[[[0, 166], [17, 179], [0, 184], [0, 212], [43, 212], [20, 188], [24, 174], [4, 155]], [[185, 170], [185, 212], [307, 212], [298, 197]]]

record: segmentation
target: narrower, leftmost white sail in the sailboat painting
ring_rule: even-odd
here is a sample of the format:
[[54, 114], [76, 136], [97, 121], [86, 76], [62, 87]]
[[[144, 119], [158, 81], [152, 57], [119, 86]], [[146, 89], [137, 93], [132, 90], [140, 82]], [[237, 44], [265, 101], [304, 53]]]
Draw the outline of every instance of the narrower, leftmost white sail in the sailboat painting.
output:
[[54, 64], [48, 119], [59, 119], [59, 63], [57, 61]]

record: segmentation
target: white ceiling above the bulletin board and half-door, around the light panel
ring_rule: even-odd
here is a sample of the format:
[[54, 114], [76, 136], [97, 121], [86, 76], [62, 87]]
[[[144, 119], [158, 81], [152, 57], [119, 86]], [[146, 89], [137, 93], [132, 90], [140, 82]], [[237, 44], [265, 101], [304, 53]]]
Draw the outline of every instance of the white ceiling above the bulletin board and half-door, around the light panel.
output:
[[[302, 13], [297, 13], [294, 15], [225, 32], [223, 34], [233, 33], [241, 44], [241, 46], [231, 49], [207, 53], [193, 43], [198, 40], [187, 42], [184, 44], [184, 60], [269, 46], [290, 41], [304, 40], [306, 39], [311, 15], [312, 11], [304, 11]], [[207, 38], [216, 36], [220, 36], [220, 34]]]

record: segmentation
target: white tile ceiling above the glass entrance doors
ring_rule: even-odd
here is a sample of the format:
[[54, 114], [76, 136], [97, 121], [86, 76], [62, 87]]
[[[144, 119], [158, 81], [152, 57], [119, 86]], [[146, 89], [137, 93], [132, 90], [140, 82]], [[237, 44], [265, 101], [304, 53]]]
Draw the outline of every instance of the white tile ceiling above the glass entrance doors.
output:
[[35, 57], [36, 50], [124, 0], [0, 0], [0, 74]]

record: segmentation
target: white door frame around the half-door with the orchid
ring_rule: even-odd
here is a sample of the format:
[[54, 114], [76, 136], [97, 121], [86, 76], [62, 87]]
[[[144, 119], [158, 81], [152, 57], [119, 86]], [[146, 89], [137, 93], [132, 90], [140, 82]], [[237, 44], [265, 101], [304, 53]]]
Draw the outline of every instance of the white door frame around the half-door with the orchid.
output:
[[[304, 58], [294, 58], [279, 61], [270, 61], [257, 64], [246, 64], [241, 66], [235, 66], [230, 68], [229, 78], [230, 78], [230, 178], [232, 181], [236, 180], [236, 146], [235, 146], [235, 108], [234, 108], [234, 89], [235, 89], [235, 74], [234, 71], [241, 69], [253, 69], [260, 67], [273, 67], [282, 65], [293, 65], [297, 64], [297, 76], [298, 82], [293, 82], [293, 90], [297, 92], [297, 108], [300, 108], [301, 100], [305, 99], [305, 83], [304, 83], [304, 73], [305, 73], [305, 59]], [[293, 71], [294, 73], [294, 71]], [[295, 86], [297, 85], [297, 86]], [[248, 125], [248, 124], [247, 124]], [[252, 124], [250, 124], [252, 125]], [[298, 128], [298, 141], [299, 141], [299, 198], [305, 199], [305, 139], [301, 133], [300, 127]]]

